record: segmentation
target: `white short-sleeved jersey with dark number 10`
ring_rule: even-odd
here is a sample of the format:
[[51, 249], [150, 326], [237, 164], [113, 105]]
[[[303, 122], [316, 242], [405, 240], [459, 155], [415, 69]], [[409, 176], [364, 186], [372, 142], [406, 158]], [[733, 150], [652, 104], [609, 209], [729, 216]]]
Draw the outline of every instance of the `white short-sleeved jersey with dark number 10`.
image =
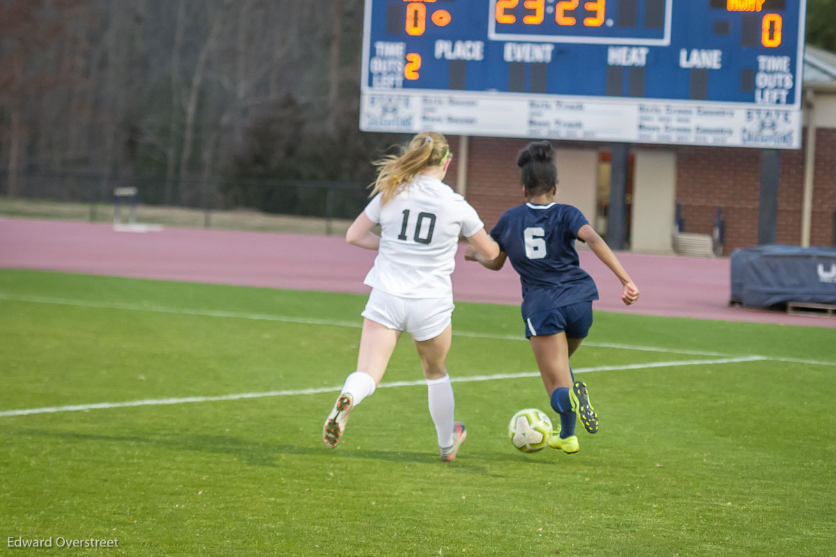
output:
[[385, 205], [376, 195], [365, 214], [381, 231], [364, 284], [403, 298], [452, 298], [459, 235], [470, 238], [485, 226], [464, 197], [420, 175]]

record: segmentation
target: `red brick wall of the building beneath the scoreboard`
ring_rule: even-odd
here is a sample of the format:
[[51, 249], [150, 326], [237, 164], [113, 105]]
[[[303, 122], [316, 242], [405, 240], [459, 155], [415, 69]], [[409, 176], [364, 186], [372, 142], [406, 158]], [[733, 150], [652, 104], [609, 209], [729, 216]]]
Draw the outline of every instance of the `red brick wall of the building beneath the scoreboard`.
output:
[[[457, 138], [450, 137], [451, 147]], [[530, 140], [472, 137], [467, 172], [467, 199], [488, 230], [508, 207], [523, 202], [517, 151]], [[609, 151], [609, 144], [558, 142], [556, 148]], [[646, 149], [648, 146], [642, 146]], [[661, 147], [660, 147], [661, 148]], [[681, 204], [684, 232], [710, 234], [716, 207], [726, 224], [724, 254], [757, 244], [760, 203], [760, 156], [757, 149], [670, 147], [676, 152], [676, 202]], [[454, 149], [454, 152], [455, 149]], [[454, 159], [454, 164], [456, 160]], [[448, 172], [455, 183], [456, 169]], [[558, 169], [559, 176], [559, 169]], [[801, 243], [804, 150], [781, 151], [776, 237], [778, 243]], [[836, 211], [836, 129], [816, 132], [811, 245], [833, 245]], [[593, 216], [589, 216], [590, 219]]]

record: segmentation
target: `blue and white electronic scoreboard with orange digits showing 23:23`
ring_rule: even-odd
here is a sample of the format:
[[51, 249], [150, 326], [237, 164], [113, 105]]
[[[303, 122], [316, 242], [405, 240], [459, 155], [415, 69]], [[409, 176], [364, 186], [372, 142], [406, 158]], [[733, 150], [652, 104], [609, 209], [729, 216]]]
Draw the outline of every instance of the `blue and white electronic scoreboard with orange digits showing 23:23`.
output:
[[360, 129], [798, 149], [806, 0], [365, 0]]

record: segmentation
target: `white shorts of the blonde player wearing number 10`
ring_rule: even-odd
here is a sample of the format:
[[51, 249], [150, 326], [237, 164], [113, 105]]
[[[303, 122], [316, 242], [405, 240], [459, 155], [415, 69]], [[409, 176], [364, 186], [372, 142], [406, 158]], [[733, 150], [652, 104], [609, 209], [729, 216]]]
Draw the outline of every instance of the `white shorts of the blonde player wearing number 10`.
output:
[[421, 341], [441, 335], [451, 324], [455, 307], [451, 298], [401, 298], [372, 289], [361, 315]]

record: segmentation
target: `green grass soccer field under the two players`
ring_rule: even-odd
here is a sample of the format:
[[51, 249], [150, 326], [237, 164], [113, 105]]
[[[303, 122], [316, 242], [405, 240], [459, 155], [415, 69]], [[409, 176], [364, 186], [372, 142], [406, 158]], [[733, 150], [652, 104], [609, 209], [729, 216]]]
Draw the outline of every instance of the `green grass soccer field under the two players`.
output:
[[[573, 367], [600, 431], [579, 433], [577, 456], [526, 455], [507, 440], [510, 416], [554, 414], [518, 309], [458, 304], [448, 365], [470, 380], [454, 383], [469, 436], [448, 464], [408, 338], [339, 447], [324, 447], [364, 301], [0, 270], [0, 547], [60, 537], [119, 549], [38, 554], [836, 552], [833, 329], [596, 313]], [[382, 388], [395, 382], [406, 384]], [[130, 401], [146, 403], [119, 404]], [[81, 408], [43, 410], [68, 405]]]

